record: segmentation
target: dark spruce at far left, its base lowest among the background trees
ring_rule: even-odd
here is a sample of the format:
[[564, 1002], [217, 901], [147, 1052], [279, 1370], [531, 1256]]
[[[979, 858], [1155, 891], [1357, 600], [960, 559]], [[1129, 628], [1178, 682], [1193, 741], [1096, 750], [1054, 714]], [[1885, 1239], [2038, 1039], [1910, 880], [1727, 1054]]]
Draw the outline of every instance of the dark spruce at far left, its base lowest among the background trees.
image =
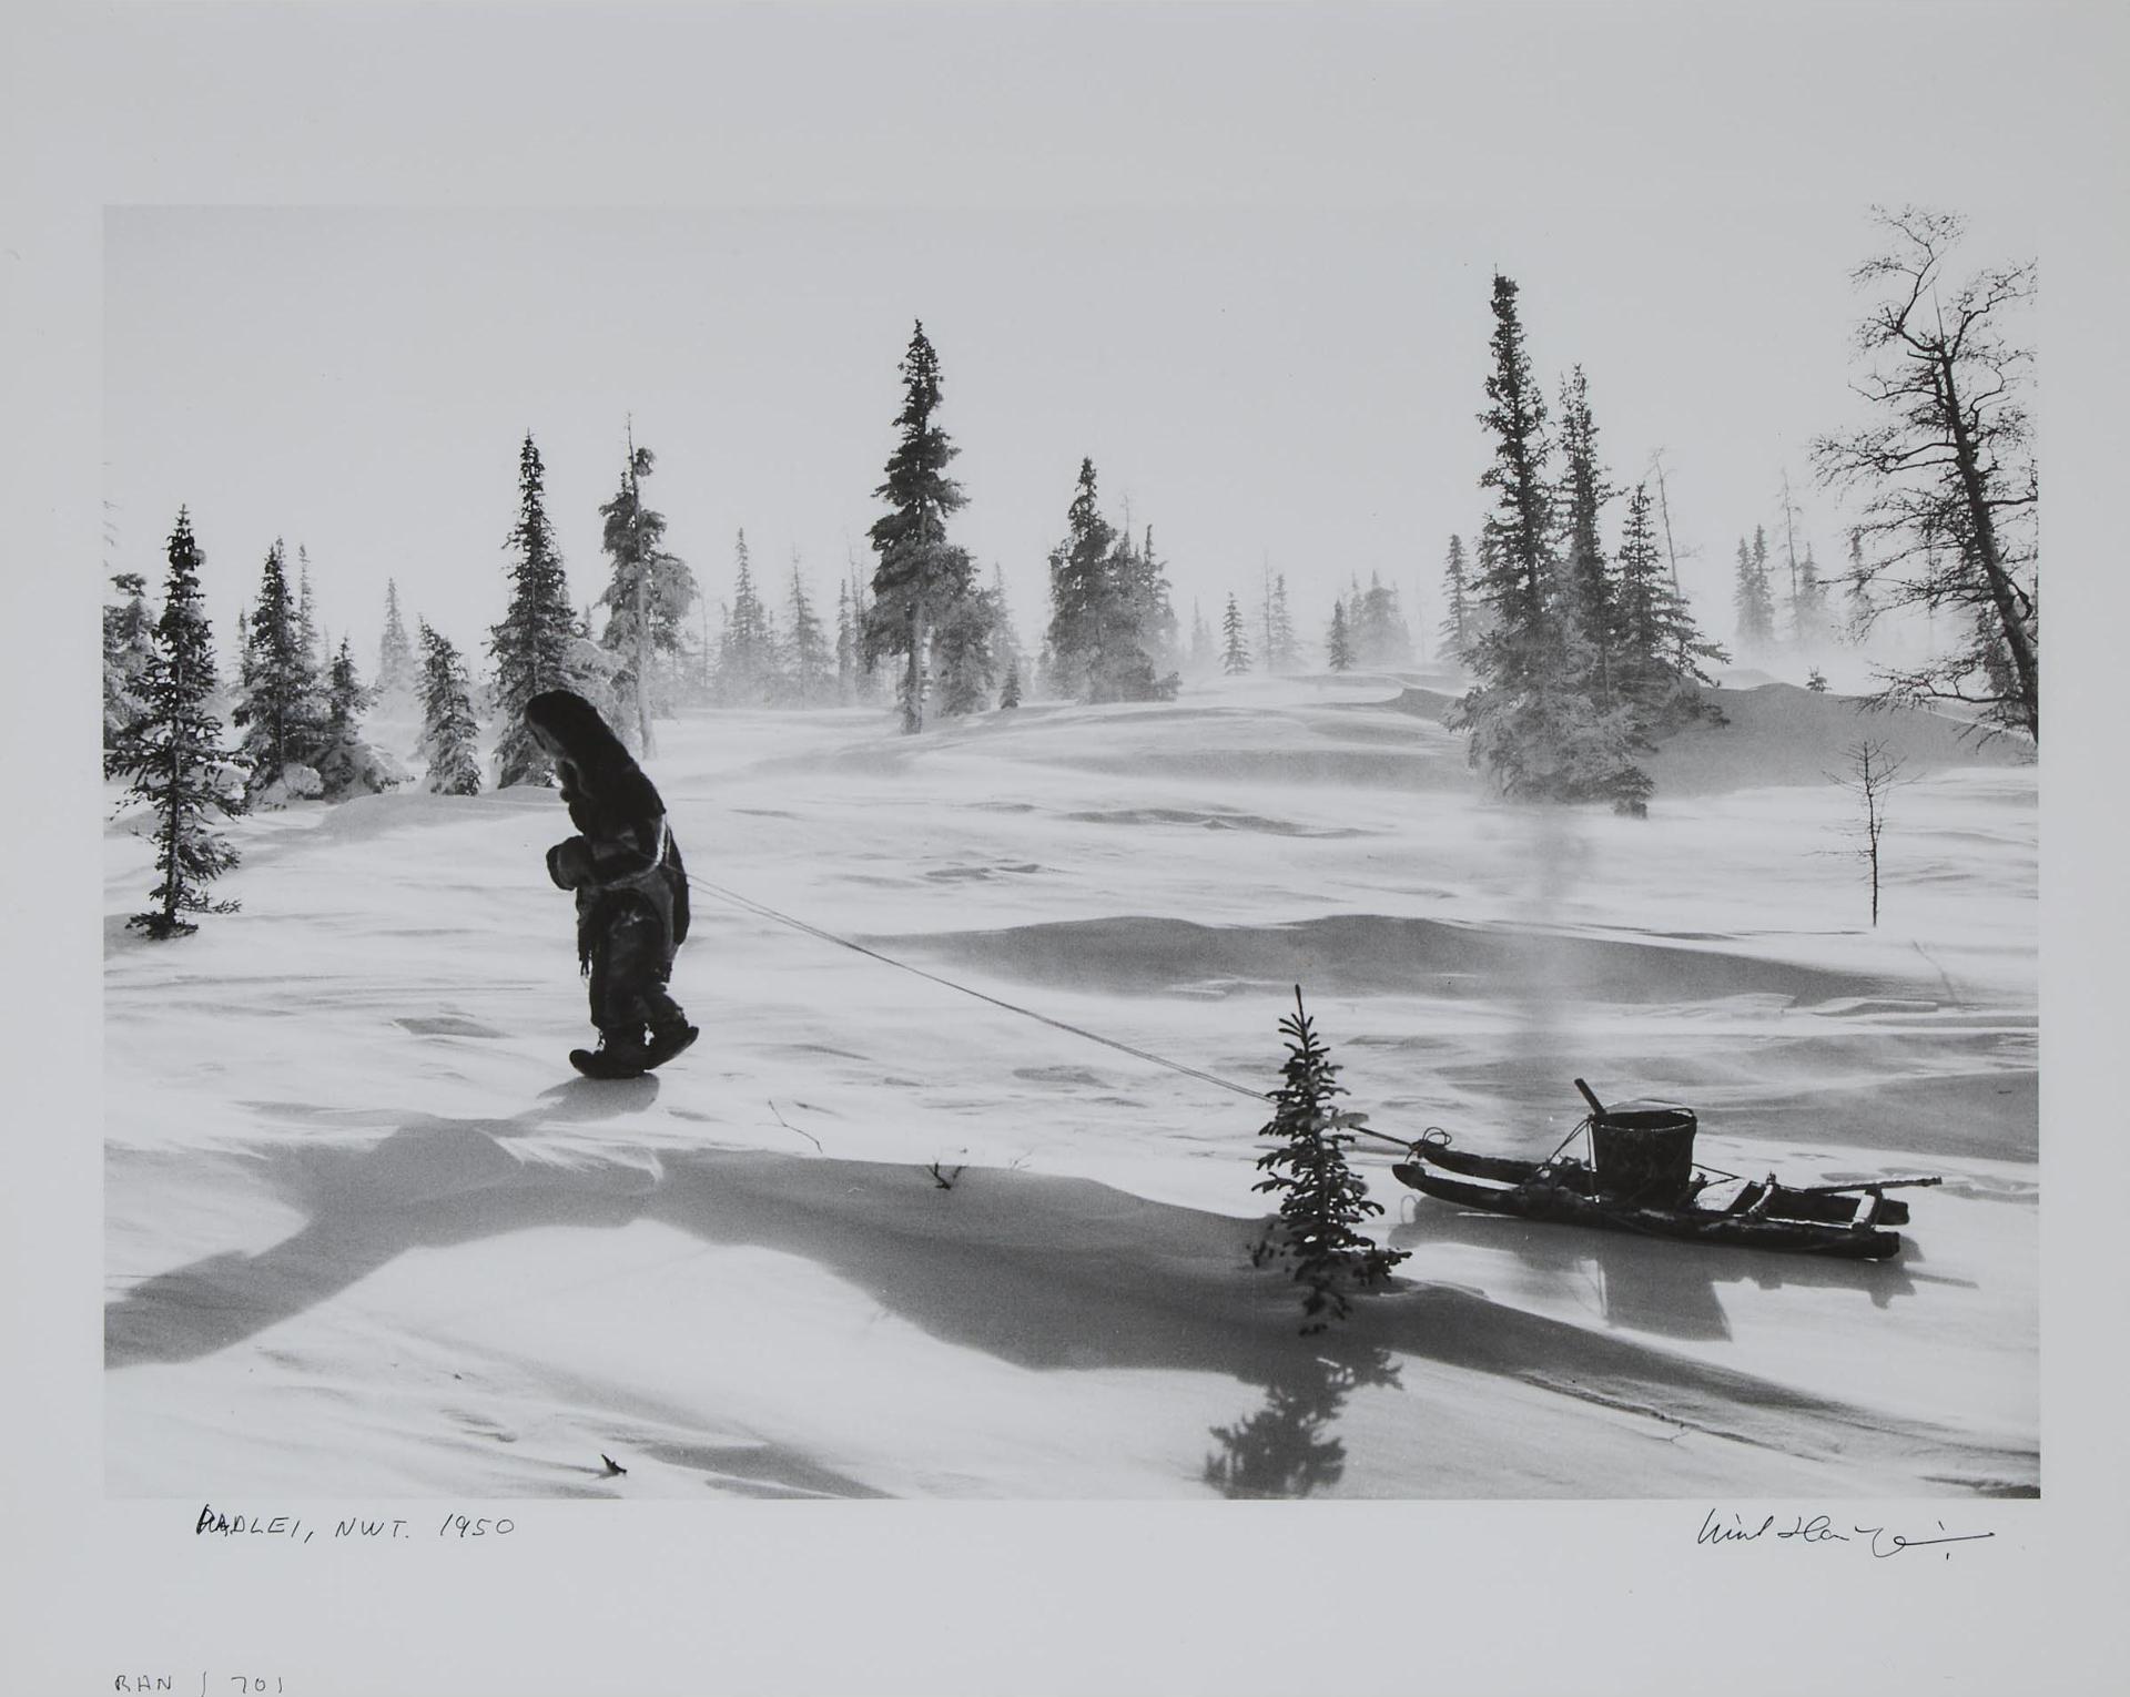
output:
[[168, 562], [162, 617], [141, 673], [145, 713], [117, 762], [117, 771], [132, 777], [128, 796], [155, 820], [155, 871], [162, 875], [149, 892], [155, 907], [126, 922], [153, 939], [198, 928], [181, 913], [236, 911], [234, 901], [207, 899], [207, 886], [236, 864], [236, 850], [209, 828], [209, 818], [243, 811], [222, 749], [222, 722], [207, 711], [217, 688], [215, 641], [200, 607], [200, 547], [183, 509], [170, 532]]

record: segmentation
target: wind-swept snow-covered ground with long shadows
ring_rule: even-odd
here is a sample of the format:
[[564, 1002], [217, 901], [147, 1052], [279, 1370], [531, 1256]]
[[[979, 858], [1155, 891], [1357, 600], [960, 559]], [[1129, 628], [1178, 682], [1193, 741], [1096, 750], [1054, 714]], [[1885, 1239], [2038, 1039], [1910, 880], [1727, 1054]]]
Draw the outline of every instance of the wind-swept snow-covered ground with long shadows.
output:
[[[1770, 686], [1615, 820], [1485, 798], [1440, 707], [660, 724], [703, 1041], [630, 1084], [564, 1062], [552, 792], [245, 820], [243, 911], [177, 943], [124, 928], [113, 824], [109, 1488], [2036, 1490], [2034, 767]], [[1862, 735], [1913, 779], [1877, 930]], [[1250, 1090], [1301, 984], [1395, 1135], [1544, 1154], [1580, 1075], [1734, 1171], [1945, 1186], [1862, 1267], [1463, 1216], [1363, 1146], [1410, 1258], [1304, 1339], [1248, 1256], [1261, 1103], [760, 907]]]

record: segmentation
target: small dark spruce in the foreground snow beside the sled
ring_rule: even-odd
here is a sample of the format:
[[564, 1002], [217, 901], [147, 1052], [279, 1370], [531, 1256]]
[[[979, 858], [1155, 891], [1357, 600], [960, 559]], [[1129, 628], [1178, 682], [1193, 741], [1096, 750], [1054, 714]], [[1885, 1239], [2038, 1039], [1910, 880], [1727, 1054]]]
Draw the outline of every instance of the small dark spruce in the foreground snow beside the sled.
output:
[[1359, 1124], [1363, 1116], [1331, 1105], [1333, 1097], [1346, 1094], [1346, 1086], [1338, 1082], [1338, 1065], [1301, 1005], [1299, 984], [1295, 1011], [1280, 1018], [1280, 1035], [1287, 1037], [1287, 1062], [1280, 1088], [1267, 1092], [1272, 1120], [1259, 1131], [1280, 1139], [1280, 1146], [1257, 1158], [1269, 1177], [1255, 1188], [1280, 1195], [1267, 1248], [1287, 1261], [1306, 1292], [1306, 1337], [1344, 1320], [1348, 1295], [1382, 1284], [1406, 1254], [1357, 1231], [1370, 1214], [1382, 1214], [1380, 1203], [1367, 1199], [1367, 1184], [1346, 1165], [1355, 1139], [1344, 1126]]

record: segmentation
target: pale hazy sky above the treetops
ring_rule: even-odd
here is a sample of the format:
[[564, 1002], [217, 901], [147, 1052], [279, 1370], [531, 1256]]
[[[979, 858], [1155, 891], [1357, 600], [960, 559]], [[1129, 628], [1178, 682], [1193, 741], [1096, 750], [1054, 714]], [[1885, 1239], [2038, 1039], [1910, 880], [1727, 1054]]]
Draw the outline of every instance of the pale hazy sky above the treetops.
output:
[[[1972, 232], [1972, 258], [2009, 258]], [[1312, 630], [1353, 573], [1442, 613], [1451, 532], [1485, 498], [1476, 422], [1495, 268], [1523, 287], [1549, 394], [1591, 385], [1617, 483], [1666, 449], [1702, 617], [1730, 630], [1740, 532], [1840, 556], [1806, 462], [1853, 415], [1847, 273], [1868, 207], [1651, 215], [1310, 211], [907, 213], [115, 209], [104, 419], [113, 564], [160, 577], [179, 502], [228, 620], [266, 547], [309, 549], [324, 624], [375, 662], [386, 577], [477, 645], [507, 594], [518, 443], [547, 464], [571, 594], [599, 594], [596, 507], [624, 426], [648, 500], [714, 600], [746, 528], [782, 600], [871, 566], [871, 490], [922, 317], [969, 507], [1022, 630], [1082, 456], [1152, 524], [1178, 605], [1218, 622], [1287, 575]], [[1619, 522], [1619, 505], [1612, 509]]]

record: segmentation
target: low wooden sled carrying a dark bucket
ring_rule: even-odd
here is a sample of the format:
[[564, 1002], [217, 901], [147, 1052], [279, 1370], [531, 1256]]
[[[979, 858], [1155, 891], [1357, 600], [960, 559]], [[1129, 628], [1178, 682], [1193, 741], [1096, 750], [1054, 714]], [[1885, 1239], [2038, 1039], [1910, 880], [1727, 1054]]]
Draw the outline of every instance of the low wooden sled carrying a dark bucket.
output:
[[1448, 1133], [1431, 1131], [1391, 1171], [1423, 1195], [1489, 1214], [1851, 1261], [1900, 1254], [1894, 1226], [1908, 1222], [1908, 1205], [1887, 1199], [1887, 1190], [1940, 1182], [1791, 1186], [1772, 1173], [1738, 1177], [1693, 1160], [1691, 1109], [1670, 1103], [1608, 1109], [1583, 1080], [1576, 1088], [1591, 1114], [1568, 1141], [1585, 1137], [1587, 1156], [1561, 1154], [1568, 1143], [1546, 1160], [1472, 1154], [1451, 1148]]

